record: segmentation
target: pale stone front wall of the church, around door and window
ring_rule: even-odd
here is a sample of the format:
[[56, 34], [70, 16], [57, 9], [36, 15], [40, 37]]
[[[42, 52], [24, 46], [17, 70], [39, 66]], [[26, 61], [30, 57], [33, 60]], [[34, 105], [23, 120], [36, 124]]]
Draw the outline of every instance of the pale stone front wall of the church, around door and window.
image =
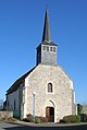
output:
[[[53, 92], [48, 93], [48, 83], [52, 83]], [[57, 66], [39, 64], [25, 79], [27, 88], [26, 114], [33, 114], [33, 93], [35, 95], [36, 116], [46, 117], [46, 107], [54, 107], [54, 121], [73, 114], [74, 90], [67, 74]]]

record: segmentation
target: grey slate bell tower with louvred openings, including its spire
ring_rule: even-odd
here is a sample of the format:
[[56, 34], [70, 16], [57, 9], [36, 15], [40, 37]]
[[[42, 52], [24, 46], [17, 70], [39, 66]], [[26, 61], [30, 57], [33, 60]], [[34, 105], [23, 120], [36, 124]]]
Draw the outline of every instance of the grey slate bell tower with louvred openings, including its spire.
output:
[[57, 45], [51, 40], [48, 10], [45, 15], [42, 40], [37, 47], [37, 66], [39, 63], [57, 66]]

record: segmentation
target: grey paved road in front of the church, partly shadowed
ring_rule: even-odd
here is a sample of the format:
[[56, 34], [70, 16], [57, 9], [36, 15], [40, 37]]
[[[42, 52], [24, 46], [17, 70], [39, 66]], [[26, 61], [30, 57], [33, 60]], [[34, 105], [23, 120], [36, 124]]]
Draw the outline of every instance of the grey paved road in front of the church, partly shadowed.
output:
[[0, 130], [87, 130], [87, 125], [18, 125], [0, 122]]

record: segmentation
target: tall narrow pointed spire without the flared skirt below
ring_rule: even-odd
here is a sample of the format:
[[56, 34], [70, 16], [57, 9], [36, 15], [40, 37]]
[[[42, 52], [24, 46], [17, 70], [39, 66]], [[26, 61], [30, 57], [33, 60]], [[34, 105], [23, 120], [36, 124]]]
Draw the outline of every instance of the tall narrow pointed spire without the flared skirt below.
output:
[[42, 42], [51, 42], [50, 36], [50, 24], [49, 24], [49, 15], [48, 10], [46, 9], [46, 16], [45, 16], [45, 25], [44, 25], [44, 34], [42, 34]]

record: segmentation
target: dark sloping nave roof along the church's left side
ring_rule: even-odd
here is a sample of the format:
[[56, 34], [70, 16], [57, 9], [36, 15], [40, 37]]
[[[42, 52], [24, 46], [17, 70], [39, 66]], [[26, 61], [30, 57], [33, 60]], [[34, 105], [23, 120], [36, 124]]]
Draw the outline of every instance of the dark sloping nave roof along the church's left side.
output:
[[20, 79], [17, 79], [12, 86], [7, 91], [7, 94], [13, 93], [15, 92], [18, 87], [20, 84], [24, 82], [25, 78], [35, 69], [36, 67], [34, 67], [32, 70], [29, 70], [28, 72], [26, 72], [24, 75], [22, 75]]

